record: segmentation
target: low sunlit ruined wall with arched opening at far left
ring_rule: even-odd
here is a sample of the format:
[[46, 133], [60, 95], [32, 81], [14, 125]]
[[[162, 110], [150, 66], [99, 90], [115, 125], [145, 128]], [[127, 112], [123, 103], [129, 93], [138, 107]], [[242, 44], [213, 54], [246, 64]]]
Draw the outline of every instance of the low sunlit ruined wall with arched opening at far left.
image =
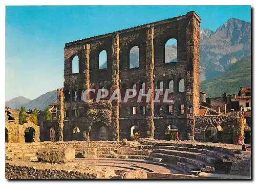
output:
[[8, 137], [8, 142], [10, 143], [24, 143], [25, 142], [25, 130], [28, 127], [32, 127], [35, 130], [34, 142], [39, 142], [40, 128], [33, 122], [28, 121], [23, 125], [18, 124], [17, 120], [8, 120], [5, 122], [5, 128], [8, 132], [6, 136]]

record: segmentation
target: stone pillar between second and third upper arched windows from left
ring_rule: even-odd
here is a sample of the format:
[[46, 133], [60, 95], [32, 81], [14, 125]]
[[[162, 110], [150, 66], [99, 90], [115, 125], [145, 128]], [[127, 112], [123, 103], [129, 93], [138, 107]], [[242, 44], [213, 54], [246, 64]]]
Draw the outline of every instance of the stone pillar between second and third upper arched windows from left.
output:
[[[119, 89], [119, 33], [114, 33], [112, 36], [111, 45], [111, 94], [116, 89]], [[119, 99], [119, 94], [117, 94]], [[114, 138], [119, 141], [119, 100], [115, 99], [112, 101], [112, 125], [115, 129]]]

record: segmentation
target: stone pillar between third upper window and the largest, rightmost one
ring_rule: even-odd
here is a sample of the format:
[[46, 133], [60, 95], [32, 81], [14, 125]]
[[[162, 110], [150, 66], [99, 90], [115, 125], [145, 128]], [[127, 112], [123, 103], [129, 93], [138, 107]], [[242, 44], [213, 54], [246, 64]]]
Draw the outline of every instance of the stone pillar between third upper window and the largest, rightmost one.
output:
[[[150, 101], [146, 104], [146, 135], [154, 139], [154, 28], [146, 29], [146, 93], [151, 89]], [[149, 134], [148, 134], [149, 131]]]

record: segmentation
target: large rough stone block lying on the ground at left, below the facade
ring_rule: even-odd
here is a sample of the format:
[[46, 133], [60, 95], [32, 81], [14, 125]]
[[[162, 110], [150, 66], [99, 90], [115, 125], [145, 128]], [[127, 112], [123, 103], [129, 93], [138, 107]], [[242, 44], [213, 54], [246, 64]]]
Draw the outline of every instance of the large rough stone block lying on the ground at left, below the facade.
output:
[[39, 162], [49, 163], [65, 163], [73, 161], [75, 158], [75, 149], [61, 148], [61, 149], [47, 149], [38, 151], [36, 153]]

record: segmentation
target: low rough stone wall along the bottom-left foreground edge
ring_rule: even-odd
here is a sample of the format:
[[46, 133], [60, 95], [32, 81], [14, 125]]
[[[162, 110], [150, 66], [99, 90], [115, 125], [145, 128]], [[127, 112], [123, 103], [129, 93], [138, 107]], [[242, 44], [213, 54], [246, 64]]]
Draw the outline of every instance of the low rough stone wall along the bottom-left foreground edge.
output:
[[77, 171], [35, 169], [27, 166], [5, 165], [7, 179], [96, 179], [97, 174], [81, 173]]

